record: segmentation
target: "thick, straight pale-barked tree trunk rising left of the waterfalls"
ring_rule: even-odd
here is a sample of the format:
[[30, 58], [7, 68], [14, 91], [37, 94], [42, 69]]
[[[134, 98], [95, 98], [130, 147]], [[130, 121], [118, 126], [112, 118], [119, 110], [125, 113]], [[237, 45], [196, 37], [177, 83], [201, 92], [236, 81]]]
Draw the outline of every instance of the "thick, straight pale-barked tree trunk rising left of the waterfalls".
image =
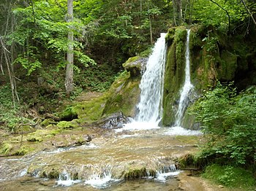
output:
[[[72, 22], [73, 20], [73, 0], [67, 0], [67, 23]], [[67, 96], [70, 95], [73, 91], [73, 60], [74, 60], [74, 47], [73, 47], [73, 32], [72, 26], [69, 25], [69, 32], [67, 35], [67, 66], [66, 66], [66, 79], [65, 79], [65, 88]]]

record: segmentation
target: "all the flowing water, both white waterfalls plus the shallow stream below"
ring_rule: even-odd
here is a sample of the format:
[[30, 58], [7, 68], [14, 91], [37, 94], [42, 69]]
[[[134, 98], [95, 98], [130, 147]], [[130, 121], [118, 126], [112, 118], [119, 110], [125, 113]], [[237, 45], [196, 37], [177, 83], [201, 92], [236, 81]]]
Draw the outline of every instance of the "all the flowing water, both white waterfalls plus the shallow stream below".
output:
[[[179, 113], [184, 113], [184, 100], [192, 88], [188, 42], [189, 31], [178, 126], [181, 123]], [[5, 190], [69, 190], [67, 187], [74, 190], [179, 190], [178, 180], [171, 179], [180, 173], [176, 169], [176, 158], [197, 150], [195, 144], [200, 138], [194, 136], [198, 131], [159, 128], [165, 54], [165, 34], [161, 34], [140, 82], [140, 103], [133, 122], [116, 130], [94, 132], [97, 130], [90, 129], [94, 138], [83, 146], [46, 149], [18, 158], [0, 157], [0, 187]], [[86, 135], [88, 131], [79, 133]], [[192, 139], [188, 135], [193, 136]], [[45, 174], [58, 175], [58, 178], [39, 178]]]

